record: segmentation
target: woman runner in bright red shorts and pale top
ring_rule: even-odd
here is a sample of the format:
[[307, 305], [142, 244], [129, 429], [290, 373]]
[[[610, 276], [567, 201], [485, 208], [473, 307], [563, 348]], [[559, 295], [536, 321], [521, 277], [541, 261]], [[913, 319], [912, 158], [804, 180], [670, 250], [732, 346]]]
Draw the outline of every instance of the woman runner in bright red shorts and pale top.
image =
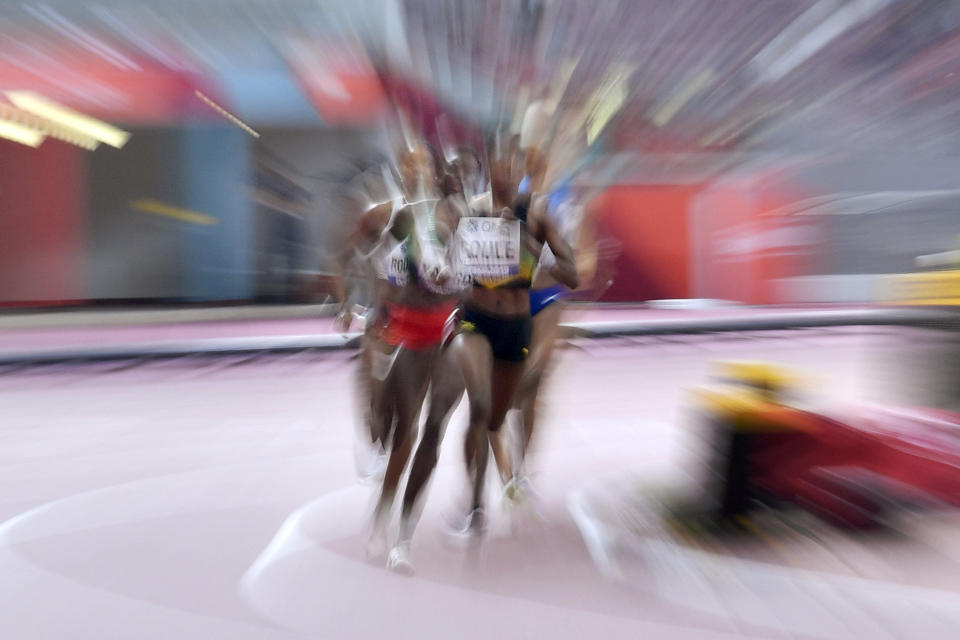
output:
[[[398, 163], [407, 194], [373, 256], [384, 289], [384, 321], [370, 346], [374, 421], [390, 457], [374, 512], [368, 553], [387, 551], [387, 521], [415, 440], [415, 423], [447, 320], [457, 304], [449, 247], [459, 213], [435, 192], [434, 159], [425, 145]], [[407, 185], [417, 184], [416, 198]]]

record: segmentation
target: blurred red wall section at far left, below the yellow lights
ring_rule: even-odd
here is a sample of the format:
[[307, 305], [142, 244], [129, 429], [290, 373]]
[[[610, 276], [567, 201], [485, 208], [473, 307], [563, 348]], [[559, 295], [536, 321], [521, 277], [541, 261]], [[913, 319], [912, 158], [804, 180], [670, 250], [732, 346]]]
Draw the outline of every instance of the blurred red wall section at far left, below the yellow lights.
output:
[[0, 305], [84, 297], [85, 153], [0, 139]]

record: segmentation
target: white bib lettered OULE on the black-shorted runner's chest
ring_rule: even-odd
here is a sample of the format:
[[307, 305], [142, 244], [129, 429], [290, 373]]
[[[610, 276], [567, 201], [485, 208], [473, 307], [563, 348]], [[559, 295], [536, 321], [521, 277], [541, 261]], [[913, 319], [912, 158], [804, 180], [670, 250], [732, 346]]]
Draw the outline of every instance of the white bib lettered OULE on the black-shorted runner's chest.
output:
[[461, 218], [457, 242], [464, 273], [505, 277], [520, 271], [519, 220]]

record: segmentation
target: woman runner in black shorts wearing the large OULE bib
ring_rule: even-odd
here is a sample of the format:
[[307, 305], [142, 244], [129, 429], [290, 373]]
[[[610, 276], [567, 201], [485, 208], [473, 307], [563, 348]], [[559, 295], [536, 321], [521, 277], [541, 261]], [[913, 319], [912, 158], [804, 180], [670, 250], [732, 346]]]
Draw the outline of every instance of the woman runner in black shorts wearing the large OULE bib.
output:
[[[530, 207], [529, 196], [517, 196], [520, 158], [494, 137], [488, 148], [492, 214], [461, 220], [458, 227], [461, 268], [473, 275], [461, 332], [453, 342], [470, 402], [470, 423], [464, 443], [473, 483], [470, 513], [463, 533], [483, 527], [483, 489], [488, 448], [505, 457], [496, 432], [513, 402], [527, 358], [532, 323], [530, 285], [544, 246], [556, 257], [550, 272], [558, 282], [579, 284], [573, 253], [556, 225]], [[528, 215], [528, 213], [530, 215]], [[498, 465], [499, 466], [499, 465]]]

